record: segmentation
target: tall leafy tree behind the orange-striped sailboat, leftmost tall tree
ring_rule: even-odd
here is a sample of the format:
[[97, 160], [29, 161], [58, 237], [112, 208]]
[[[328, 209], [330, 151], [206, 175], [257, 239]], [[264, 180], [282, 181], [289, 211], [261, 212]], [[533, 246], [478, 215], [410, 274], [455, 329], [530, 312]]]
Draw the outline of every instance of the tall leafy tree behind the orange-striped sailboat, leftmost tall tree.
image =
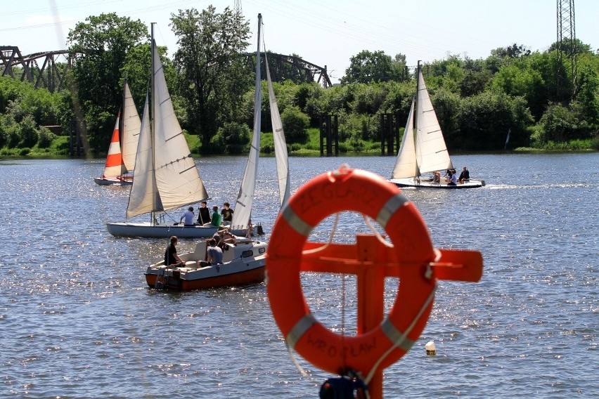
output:
[[[148, 27], [141, 20], [116, 13], [90, 16], [69, 32], [69, 52], [76, 56], [72, 69], [75, 105], [81, 107], [80, 117], [87, 121], [92, 149], [105, 151], [112, 127], [96, 116], [116, 115], [122, 103], [121, 72], [127, 54], [147, 39]], [[148, 74], [145, 76], [147, 81]]]

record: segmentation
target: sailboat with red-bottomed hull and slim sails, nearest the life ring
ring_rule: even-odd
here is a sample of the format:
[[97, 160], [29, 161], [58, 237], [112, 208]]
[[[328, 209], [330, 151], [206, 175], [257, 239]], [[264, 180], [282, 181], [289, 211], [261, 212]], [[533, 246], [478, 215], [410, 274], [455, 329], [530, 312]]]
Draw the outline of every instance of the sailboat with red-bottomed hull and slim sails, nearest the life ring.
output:
[[[262, 103], [262, 86], [260, 74], [260, 27], [262, 15], [258, 14], [258, 48], [256, 53], [256, 94], [254, 98], [254, 132], [250, 155], [247, 158], [245, 173], [236, 200], [235, 212], [231, 225], [251, 225], [251, 209], [254, 201], [256, 175], [258, 170], [260, 148], [260, 107]], [[269, 86], [269, 99], [271, 107], [271, 122], [276, 152], [277, 175], [279, 185], [279, 201], [283, 205], [290, 195], [290, 179], [288, 168], [287, 144], [281, 116], [269, 71], [268, 58], [264, 53], [266, 62], [266, 79]], [[226, 287], [231, 285], [252, 284], [264, 280], [266, 268], [266, 242], [252, 240], [249, 234], [246, 237], [236, 237], [235, 244], [226, 244], [223, 247], [223, 263], [210, 266], [200, 266], [198, 262], [207, 259], [207, 243], [196, 244], [193, 252], [183, 253], [179, 257], [186, 264], [184, 267], [169, 268], [164, 261], [148, 266], [146, 282], [149, 287], [162, 289], [203, 289], [212, 287]]]

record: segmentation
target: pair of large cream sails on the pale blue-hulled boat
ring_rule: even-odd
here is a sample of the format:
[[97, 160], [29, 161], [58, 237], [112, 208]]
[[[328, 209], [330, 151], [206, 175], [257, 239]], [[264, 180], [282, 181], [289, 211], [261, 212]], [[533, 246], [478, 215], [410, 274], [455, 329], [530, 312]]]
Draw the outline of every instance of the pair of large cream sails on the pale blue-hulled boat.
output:
[[146, 100], [127, 218], [184, 207], [208, 197], [174, 114], [154, 40], [152, 57], [151, 108]]

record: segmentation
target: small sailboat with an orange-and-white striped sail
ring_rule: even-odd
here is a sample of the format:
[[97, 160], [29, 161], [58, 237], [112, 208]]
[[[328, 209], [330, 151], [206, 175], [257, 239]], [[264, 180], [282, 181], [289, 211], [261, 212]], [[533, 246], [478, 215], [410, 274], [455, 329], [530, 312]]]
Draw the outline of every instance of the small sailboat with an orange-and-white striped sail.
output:
[[[129, 174], [135, 167], [135, 155], [141, 120], [137, 113], [127, 79], [123, 85], [122, 112], [117, 114], [115, 129], [108, 147], [108, 156], [101, 177], [94, 178], [99, 185], [131, 185], [133, 175]], [[122, 132], [122, 145], [120, 133]]]

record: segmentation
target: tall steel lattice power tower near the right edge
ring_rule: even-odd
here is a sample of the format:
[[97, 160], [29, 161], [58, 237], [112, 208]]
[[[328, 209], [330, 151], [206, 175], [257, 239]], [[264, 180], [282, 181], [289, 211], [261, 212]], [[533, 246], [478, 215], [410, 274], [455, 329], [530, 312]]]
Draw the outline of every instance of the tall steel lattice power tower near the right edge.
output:
[[572, 74], [572, 98], [576, 96], [577, 48], [574, 23], [574, 0], [558, 0], [558, 99], [562, 99], [566, 72], [564, 58], [569, 58]]

